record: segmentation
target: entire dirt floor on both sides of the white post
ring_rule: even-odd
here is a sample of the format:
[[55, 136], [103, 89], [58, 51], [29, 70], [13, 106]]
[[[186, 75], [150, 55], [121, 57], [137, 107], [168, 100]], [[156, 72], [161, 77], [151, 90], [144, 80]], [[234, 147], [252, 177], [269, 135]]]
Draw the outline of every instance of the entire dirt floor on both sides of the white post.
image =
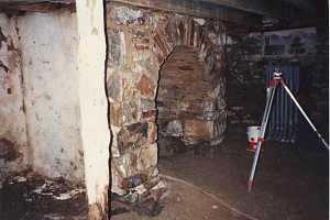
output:
[[[162, 212], [145, 217], [131, 211], [111, 219], [329, 219], [327, 151], [266, 142], [249, 194], [246, 179], [253, 154], [246, 146], [242, 131], [227, 135], [213, 156], [196, 156], [190, 151], [161, 158], [161, 174], [182, 179], [167, 179], [169, 193]], [[0, 190], [1, 220], [82, 220], [86, 210], [84, 189], [61, 179], [13, 177]]]

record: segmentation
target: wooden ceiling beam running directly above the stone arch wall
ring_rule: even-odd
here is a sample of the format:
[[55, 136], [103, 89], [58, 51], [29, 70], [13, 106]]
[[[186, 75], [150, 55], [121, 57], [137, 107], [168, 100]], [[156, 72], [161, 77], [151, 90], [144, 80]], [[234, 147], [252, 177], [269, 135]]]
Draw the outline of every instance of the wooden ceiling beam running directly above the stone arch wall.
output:
[[205, 19], [219, 19], [243, 25], [261, 22], [261, 15], [241, 10], [217, 6], [205, 1], [191, 0], [107, 0], [107, 2], [124, 3], [133, 7], [176, 12]]

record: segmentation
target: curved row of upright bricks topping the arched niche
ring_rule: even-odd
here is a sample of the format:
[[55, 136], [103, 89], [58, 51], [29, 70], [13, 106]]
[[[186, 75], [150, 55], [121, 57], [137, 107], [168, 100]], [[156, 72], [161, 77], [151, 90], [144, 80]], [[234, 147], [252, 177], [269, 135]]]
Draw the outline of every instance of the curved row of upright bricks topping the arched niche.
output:
[[[224, 26], [220, 22], [172, 16], [153, 31], [152, 52], [163, 64], [175, 46], [194, 46], [209, 67], [222, 72]], [[212, 68], [211, 68], [212, 69]]]

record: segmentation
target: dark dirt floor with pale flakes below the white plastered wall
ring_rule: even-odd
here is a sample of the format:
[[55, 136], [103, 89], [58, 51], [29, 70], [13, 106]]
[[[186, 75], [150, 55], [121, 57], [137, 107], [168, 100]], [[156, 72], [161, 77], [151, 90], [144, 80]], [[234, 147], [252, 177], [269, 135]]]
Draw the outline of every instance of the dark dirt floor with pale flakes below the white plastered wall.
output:
[[33, 172], [10, 177], [0, 190], [1, 220], [82, 220], [87, 216], [81, 186], [45, 179]]

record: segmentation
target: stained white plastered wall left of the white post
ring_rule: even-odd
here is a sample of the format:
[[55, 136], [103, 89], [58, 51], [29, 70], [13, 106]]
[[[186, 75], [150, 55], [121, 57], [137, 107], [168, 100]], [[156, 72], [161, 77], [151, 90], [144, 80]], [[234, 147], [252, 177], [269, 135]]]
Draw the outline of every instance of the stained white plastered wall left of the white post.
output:
[[76, 14], [1, 14], [0, 26], [0, 138], [35, 172], [81, 183]]

